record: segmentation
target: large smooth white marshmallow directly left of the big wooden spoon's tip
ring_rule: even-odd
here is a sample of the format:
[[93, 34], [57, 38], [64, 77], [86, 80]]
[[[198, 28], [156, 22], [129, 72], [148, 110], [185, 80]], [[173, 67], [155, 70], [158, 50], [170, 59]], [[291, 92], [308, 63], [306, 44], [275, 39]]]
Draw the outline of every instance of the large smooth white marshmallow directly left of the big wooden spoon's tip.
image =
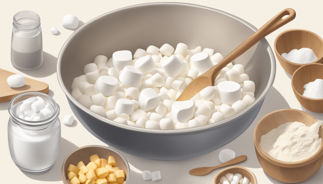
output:
[[139, 95], [139, 106], [144, 111], [149, 111], [157, 107], [159, 102], [158, 94], [151, 88], [146, 88]]

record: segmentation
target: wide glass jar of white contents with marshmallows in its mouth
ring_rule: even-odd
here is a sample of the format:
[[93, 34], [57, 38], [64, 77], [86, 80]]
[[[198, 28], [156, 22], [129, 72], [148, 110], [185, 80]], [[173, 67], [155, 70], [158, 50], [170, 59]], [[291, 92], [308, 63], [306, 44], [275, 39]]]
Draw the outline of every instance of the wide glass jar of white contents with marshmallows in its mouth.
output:
[[[52, 105], [53, 115], [42, 121], [26, 121], [19, 118], [16, 114], [17, 106], [27, 98], [37, 96]], [[24, 172], [46, 172], [54, 165], [60, 149], [59, 106], [45, 93], [25, 92], [11, 100], [8, 111], [8, 144], [12, 160]]]

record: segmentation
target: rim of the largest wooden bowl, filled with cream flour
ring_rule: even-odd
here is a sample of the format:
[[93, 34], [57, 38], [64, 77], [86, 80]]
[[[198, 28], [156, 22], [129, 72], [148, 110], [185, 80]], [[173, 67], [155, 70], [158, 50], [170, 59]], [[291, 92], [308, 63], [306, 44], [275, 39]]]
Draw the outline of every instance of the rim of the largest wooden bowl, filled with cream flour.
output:
[[[307, 116], [313, 118], [315, 121], [318, 121], [311, 114], [309, 114], [309, 113], [307, 113], [305, 111], [297, 110], [297, 109], [279, 109], [279, 110], [276, 110], [276, 111], [269, 112], [268, 114], [266, 114], [264, 117], [262, 117], [259, 120], [259, 122], [257, 123], [257, 125], [255, 127], [255, 131], [254, 131], [254, 145], [255, 145], [256, 151], [258, 151], [258, 153], [260, 154], [260, 156], [263, 157], [265, 160], [269, 161], [270, 163], [272, 163], [274, 165], [277, 165], [277, 166], [280, 166], [280, 167], [286, 167], [286, 168], [302, 167], [302, 166], [306, 166], [306, 165], [311, 164], [314, 161], [318, 160], [323, 155], [323, 141], [321, 141], [321, 146], [318, 149], [318, 151], [316, 153], [314, 153], [314, 155], [308, 157], [307, 159], [299, 160], [299, 161], [294, 161], [294, 162], [286, 162], [286, 161], [277, 160], [274, 157], [270, 156], [268, 153], [266, 153], [263, 149], [261, 149], [261, 147], [259, 145], [260, 141], [258, 141], [256, 139], [256, 133], [258, 132], [259, 127], [261, 126], [260, 125], [260, 122], [262, 122], [268, 116], [270, 116], [272, 114], [276, 114], [277, 112], [281, 112], [281, 111], [297, 111], [299, 113], [303, 113], [304, 115], [307, 115]], [[322, 129], [322, 126], [320, 126], [320, 128]]]

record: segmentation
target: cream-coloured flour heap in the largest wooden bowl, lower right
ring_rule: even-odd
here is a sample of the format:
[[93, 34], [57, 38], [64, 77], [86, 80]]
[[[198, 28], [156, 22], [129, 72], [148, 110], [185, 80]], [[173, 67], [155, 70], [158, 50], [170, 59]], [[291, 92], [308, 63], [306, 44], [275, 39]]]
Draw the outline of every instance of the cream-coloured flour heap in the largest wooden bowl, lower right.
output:
[[323, 121], [318, 121], [307, 127], [301, 122], [287, 122], [261, 136], [260, 147], [277, 160], [305, 160], [321, 146], [318, 129], [322, 123]]

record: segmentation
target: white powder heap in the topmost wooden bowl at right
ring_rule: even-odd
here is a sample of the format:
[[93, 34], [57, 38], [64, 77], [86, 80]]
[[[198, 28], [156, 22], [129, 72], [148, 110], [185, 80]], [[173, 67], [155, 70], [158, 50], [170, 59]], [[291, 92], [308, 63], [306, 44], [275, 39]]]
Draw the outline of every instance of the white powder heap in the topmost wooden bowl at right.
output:
[[309, 48], [293, 49], [289, 53], [282, 53], [282, 57], [298, 64], [312, 63], [318, 59], [313, 50]]

